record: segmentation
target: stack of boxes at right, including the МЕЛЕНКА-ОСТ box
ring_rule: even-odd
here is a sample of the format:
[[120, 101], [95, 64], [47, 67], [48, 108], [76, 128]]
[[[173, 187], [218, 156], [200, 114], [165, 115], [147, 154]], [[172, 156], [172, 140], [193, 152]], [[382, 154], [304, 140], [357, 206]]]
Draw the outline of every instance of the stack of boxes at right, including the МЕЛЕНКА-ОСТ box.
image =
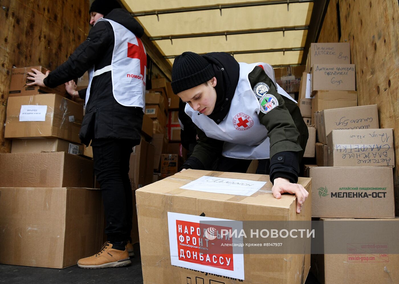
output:
[[[302, 86], [299, 101], [302, 115], [307, 117], [310, 111], [307, 119], [317, 129], [318, 167], [308, 167], [306, 172], [312, 178], [312, 217], [324, 222], [326, 228], [348, 218], [353, 218], [354, 226], [363, 220], [395, 218], [393, 130], [379, 129], [377, 105], [357, 106], [349, 48], [345, 43], [311, 45], [307, 68], [310, 97]], [[397, 226], [399, 219], [392, 222]], [[326, 234], [324, 238], [328, 246], [333, 236]], [[312, 255], [312, 272], [321, 283], [370, 279], [381, 283], [386, 271], [398, 265], [397, 255], [389, 255], [388, 261], [387, 251], [362, 250], [360, 244], [353, 245], [356, 241], [342, 244], [345, 249], [348, 245], [347, 254]], [[371, 237], [369, 242], [381, 240]], [[398, 280], [394, 278], [393, 282]]]

